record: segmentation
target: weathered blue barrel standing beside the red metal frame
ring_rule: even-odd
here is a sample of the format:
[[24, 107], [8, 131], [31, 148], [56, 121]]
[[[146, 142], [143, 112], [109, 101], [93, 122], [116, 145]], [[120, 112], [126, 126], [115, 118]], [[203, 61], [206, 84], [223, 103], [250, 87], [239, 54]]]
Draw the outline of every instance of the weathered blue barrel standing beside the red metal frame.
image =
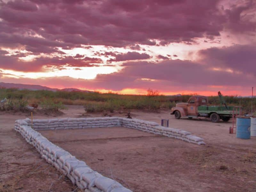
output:
[[251, 119], [246, 117], [236, 118], [236, 138], [250, 139], [251, 138]]

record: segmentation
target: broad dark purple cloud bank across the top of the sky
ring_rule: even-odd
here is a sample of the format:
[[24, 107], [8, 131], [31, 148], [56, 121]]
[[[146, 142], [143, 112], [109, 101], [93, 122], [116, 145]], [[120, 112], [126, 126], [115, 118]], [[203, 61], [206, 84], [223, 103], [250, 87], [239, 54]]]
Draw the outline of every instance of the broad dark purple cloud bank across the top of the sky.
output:
[[[213, 39], [223, 28], [255, 32], [255, 2], [224, 1], [37, 1], [0, 3], [0, 44], [23, 46], [33, 53], [58, 52], [56, 47], [81, 44], [132, 46], [171, 42], [193, 43], [194, 38]], [[200, 4], [200, 6], [198, 6]], [[134, 46], [135, 45], [135, 46]]]

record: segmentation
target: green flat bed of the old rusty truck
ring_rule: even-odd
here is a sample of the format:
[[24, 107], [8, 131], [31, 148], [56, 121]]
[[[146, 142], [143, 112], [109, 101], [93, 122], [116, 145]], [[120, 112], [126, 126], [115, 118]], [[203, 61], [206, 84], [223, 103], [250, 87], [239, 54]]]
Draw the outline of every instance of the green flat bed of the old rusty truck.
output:
[[[228, 106], [228, 109], [225, 106], [198, 106], [198, 113], [211, 113], [215, 112], [217, 114], [233, 114], [233, 106]], [[235, 111], [234, 111], [235, 112]], [[237, 114], [239, 111], [237, 111]]]

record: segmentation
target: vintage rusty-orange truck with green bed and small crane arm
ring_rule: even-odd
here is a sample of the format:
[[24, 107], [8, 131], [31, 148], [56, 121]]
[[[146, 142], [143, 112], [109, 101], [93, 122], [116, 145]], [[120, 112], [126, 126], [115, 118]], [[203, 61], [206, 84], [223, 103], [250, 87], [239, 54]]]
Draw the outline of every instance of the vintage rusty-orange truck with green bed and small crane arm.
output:
[[192, 96], [189, 98], [187, 103], [177, 103], [176, 107], [171, 109], [171, 114], [175, 116], [176, 119], [180, 117], [208, 117], [214, 123], [219, 122], [220, 119], [223, 121], [228, 121], [233, 113], [238, 115], [239, 110], [233, 110], [233, 106], [227, 106], [225, 101], [222, 99], [222, 95], [218, 92], [220, 96], [221, 104], [224, 103], [225, 106], [208, 106], [208, 97], [206, 96]]

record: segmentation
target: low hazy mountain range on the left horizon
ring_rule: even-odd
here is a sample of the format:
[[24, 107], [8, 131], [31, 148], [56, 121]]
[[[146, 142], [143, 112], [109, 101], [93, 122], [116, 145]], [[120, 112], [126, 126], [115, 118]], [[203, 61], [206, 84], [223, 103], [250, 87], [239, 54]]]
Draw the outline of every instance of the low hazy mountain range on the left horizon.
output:
[[50, 87], [45, 87], [41, 85], [29, 85], [29, 84], [16, 84], [16, 83], [3, 83], [0, 82], [0, 88], [17, 88], [19, 90], [28, 89], [28, 90], [47, 90], [47, 91], [66, 91], [66, 92], [92, 92], [87, 90], [80, 90], [76, 88], [65, 88], [65, 89], [55, 89]]

